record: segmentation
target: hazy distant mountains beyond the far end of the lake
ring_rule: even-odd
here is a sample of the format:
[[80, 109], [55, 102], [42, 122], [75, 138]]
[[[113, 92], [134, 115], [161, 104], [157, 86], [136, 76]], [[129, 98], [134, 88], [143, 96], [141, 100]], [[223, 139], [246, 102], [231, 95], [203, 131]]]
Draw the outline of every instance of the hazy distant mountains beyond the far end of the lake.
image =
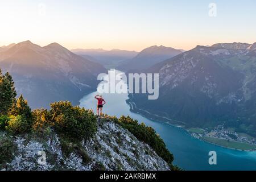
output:
[[138, 72], [184, 52], [182, 49], [164, 46], [151, 46], [141, 52], [120, 49], [112, 49], [111, 51], [104, 49], [72, 49], [71, 51], [85, 59], [100, 63], [105, 68], [116, 68], [124, 72]]

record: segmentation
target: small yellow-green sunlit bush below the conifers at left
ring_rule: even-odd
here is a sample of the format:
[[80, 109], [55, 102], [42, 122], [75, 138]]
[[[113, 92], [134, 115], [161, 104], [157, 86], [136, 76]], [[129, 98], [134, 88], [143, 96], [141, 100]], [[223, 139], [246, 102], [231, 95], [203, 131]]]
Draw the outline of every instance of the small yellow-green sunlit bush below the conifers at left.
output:
[[28, 123], [21, 115], [11, 115], [7, 122], [6, 130], [11, 134], [23, 134], [28, 131]]

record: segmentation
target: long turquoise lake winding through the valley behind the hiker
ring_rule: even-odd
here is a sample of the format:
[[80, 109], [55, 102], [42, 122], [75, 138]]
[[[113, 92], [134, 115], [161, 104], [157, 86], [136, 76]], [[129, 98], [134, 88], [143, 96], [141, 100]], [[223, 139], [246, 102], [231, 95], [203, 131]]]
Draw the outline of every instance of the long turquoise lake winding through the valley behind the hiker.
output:
[[[100, 86], [101, 84], [99, 84]], [[90, 93], [80, 100], [80, 106], [96, 111], [98, 92]], [[103, 111], [108, 115], [130, 115], [131, 118], [153, 127], [174, 154], [174, 164], [186, 170], [256, 170], [256, 152], [231, 150], [191, 137], [187, 131], [168, 123], [156, 122], [132, 113], [126, 100], [128, 94], [102, 94], [106, 101]], [[217, 164], [208, 163], [209, 151], [216, 151]]]

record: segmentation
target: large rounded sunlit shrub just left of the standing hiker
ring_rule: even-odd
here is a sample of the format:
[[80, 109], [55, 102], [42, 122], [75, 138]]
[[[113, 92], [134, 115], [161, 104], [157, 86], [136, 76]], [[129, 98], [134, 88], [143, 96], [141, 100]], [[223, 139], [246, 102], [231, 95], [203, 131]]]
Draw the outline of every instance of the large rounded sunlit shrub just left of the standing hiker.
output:
[[56, 131], [69, 138], [88, 139], [97, 130], [96, 116], [84, 108], [73, 107], [68, 101], [51, 104], [50, 115]]

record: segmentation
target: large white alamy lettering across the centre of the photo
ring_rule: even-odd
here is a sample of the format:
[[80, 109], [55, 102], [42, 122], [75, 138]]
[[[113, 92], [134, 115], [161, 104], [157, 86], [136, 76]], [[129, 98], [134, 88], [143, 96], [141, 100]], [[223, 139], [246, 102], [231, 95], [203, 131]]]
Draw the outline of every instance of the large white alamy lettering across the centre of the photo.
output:
[[98, 75], [103, 82], [98, 86], [99, 93], [148, 93], [148, 100], [159, 97], [159, 73], [120, 73], [111, 69]]

